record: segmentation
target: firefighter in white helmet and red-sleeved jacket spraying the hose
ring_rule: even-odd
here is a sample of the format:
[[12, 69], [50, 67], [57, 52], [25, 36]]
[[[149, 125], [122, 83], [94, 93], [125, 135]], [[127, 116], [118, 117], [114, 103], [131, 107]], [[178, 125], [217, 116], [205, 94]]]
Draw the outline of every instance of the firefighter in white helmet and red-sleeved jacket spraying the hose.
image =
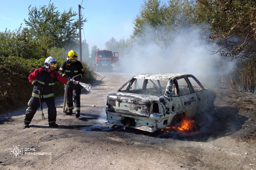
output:
[[30, 101], [28, 102], [28, 109], [24, 117], [24, 127], [28, 128], [35, 112], [40, 106], [39, 93], [40, 90], [41, 101], [46, 102], [48, 106], [48, 123], [49, 126], [58, 127], [56, 124], [57, 111], [54, 102], [54, 84], [59, 81], [63, 84], [69, 84], [73, 88], [78, 88], [78, 85], [74, 82], [59, 75], [57, 71], [54, 71], [57, 67], [57, 61], [53, 57], [48, 57], [45, 60], [45, 66], [35, 69], [33, 73], [28, 76], [28, 80], [33, 84], [33, 92]]

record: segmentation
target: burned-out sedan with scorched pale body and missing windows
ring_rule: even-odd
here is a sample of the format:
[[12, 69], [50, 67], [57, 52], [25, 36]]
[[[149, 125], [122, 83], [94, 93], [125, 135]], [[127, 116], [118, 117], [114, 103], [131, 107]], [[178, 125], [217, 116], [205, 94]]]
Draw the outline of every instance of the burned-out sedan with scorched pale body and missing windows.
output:
[[190, 74], [142, 74], [107, 97], [108, 123], [154, 132], [213, 108], [215, 92]]

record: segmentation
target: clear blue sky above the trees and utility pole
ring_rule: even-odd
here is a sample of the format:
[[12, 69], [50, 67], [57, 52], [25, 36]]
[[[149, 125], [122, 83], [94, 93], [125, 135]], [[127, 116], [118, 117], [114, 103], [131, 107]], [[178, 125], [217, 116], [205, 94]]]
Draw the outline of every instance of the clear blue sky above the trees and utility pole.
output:
[[[83, 1], [83, 2], [82, 2]], [[24, 25], [24, 18], [28, 18], [29, 5], [48, 5], [49, 0], [0, 0], [0, 31], [7, 28], [11, 31]], [[88, 22], [84, 24], [84, 37], [91, 47], [97, 45], [105, 49], [105, 42], [111, 37], [119, 40], [129, 38], [133, 31], [134, 17], [139, 14], [143, 0], [52, 0], [61, 13], [72, 7], [78, 13], [78, 5], [82, 3], [82, 15]], [[85, 5], [86, 4], [86, 5]]]

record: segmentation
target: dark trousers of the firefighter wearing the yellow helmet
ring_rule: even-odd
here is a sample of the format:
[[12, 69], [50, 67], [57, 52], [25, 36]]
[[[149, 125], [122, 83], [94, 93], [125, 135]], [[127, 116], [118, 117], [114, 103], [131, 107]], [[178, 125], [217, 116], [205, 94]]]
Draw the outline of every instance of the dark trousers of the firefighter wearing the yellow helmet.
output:
[[[66, 85], [65, 85], [66, 86]], [[69, 110], [73, 110], [75, 106], [75, 111], [80, 112], [80, 95], [82, 91], [81, 89], [73, 90], [72, 87], [68, 87], [67, 91], [67, 108]], [[74, 98], [74, 105], [73, 105], [73, 98]]]

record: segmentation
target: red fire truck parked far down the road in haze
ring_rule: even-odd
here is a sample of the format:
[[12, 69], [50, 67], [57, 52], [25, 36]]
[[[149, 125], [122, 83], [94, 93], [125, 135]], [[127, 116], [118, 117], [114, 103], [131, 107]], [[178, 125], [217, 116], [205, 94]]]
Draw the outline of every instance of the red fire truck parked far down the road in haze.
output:
[[108, 50], [99, 50], [95, 52], [95, 64], [96, 71], [100, 69], [107, 69], [108, 71], [113, 70], [113, 63], [118, 61], [118, 52], [108, 51]]

